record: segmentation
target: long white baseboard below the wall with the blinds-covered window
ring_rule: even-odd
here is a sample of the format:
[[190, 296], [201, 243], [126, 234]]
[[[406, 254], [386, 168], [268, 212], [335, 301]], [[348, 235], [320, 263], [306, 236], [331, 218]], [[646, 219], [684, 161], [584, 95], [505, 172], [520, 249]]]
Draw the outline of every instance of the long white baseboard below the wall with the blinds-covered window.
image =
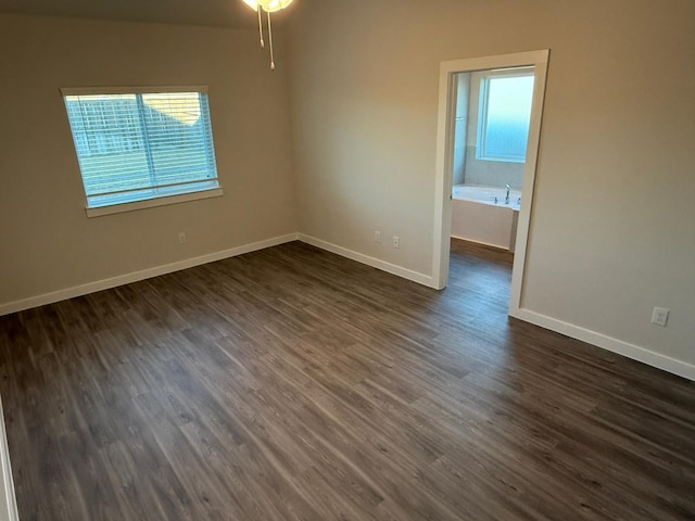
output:
[[[275, 237], [265, 241], [254, 242], [252, 244], [245, 244], [242, 246], [232, 247], [230, 250], [223, 250], [222, 252], [210, 253], [200, 257], [187, 258], [184, 260], [177, 260], [176, 263], [165, 264], [162, 266], [155, 266], [153, 268], [143, 269], [141, 271], [134, 271], [131, 274], [119, 275], [110, 279], [98, 280], [94, 282], [88, 282], [86, 284], [76, 285], [73, 288], [66, 288], [64, 290], [54, 291], [51, 293], [45, 293], [42, 295], [31, 296], [23, 298], [21, 301], [14, 301], [7, 304], [0, 304], [0, 316], [9, 315], [11, 313], [22, 312], [24, 309], [30, 309], [33, 307], [43, 306], [46, 304], [53, 304], [54, 302], [65, 301], [67, 298], [74, 298], [76, 296], [87, 295], [97, 291], [109, 290], [118, 285], [129, 284], [131, 282], [138, 282], [140, 280], [150, 279], [152, 277], [159, 277], [161, 275], [179, 271], [181, 269], [192, 268], [207, 263], [214, 263], [215, 260], [222, 260], [223, 258], [235, 257], [244, 253], [255, 252], [265, 247], [277, 246], [278, 244], [285, 244], [286, 242], [296, 241], [298, 233], [289, 233], [287, 236]], [[2, 521], [2, 520], [0, 520]]]

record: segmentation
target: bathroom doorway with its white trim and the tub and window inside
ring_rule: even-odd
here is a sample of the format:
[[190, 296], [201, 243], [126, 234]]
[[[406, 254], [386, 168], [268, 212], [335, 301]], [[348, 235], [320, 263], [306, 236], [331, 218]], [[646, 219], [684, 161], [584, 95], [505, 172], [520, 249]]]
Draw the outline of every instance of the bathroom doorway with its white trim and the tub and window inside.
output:
[[[475, 186], [475, 195], [466, 193], [465, 199], [483, 201], [465, 220], [488, 223], [493, 236], [468, 239], [515, 252], [511, 316], [519, 310], [523, 285], [548, 54], [541, 50], [456, 60], [440, 67], [434, 282], [440, 289], [447, 285], [451, 236], [460, 232], [452, 221], [454, 189], [460, 193], [467, 190], [462, 187]], [[517, 99], [509, 91], [517, 91]], [[514, 119], [506, 128], [501, 124], [505, 118]]]

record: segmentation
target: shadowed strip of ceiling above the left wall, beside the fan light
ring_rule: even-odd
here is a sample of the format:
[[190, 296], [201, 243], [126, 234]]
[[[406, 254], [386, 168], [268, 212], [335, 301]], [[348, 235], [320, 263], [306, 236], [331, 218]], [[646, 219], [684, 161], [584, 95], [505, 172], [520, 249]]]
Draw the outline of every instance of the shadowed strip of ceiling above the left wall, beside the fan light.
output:
[[[288, 11], [275, 13], [274, 25]], [[242, 0], [0, 0], [0, 12], [235, 28], [258, 20]]]

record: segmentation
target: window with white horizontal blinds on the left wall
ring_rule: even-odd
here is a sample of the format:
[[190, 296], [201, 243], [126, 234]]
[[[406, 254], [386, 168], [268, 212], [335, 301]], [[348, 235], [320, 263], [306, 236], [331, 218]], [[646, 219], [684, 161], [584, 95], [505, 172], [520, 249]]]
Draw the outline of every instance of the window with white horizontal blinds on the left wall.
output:
[[88, 208], [219, 188], [205, 89], [61, 92]]

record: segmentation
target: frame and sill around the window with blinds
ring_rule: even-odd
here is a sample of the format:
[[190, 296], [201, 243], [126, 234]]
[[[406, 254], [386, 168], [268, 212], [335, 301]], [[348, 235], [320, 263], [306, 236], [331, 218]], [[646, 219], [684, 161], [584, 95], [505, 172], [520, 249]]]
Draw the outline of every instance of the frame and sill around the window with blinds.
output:
[[[75, 158], [78, 163], [78, 171], [79, 171], [79, 180], [83, 186], [84, 201], [85, 201], [85, 212], [87, 217], [99, 217], [103, 215], [117, 214], [122, 212], [131, 212], [137, 209], [156, 207], [156, 206], [165, 206], [169, 204], [177, 204], [188, 201], [199, 201], [203, 199], [210, 198], [218, 198], [224, 195], [224, 190], [219, 180], [219, 176], [216, 168], [216, 153], [214, 142], [210, 143], [211, 151], [214, 164], [215, 164], [215, 174], [216, 178], [214, 179], [217, 182], [216, 187], [203, 188], [200, 190], [193, 190], [188, 192], [179, 192], [179, 193], [164, 193], [156, 194], [151, 198], [140, 199], [136, 201], [128, 202], [115, 202], [105, 205], [91, 205], [89, 203], [89, 198], [87, 195], [87, 187], [85, 186], [85, 180], [83, 177], [81, 166], [79, 166], [79, 156], [77, 152], [77, 147], [75, 143], [73, 127], [67, 116], [67, 105], [66, 105], [66, 97], [68, 96], [108, 96], [108, 94], [152, 94], [152, 93], [177, 93], [177, 92], [199, 92], [203, 93], [208, 98], [208, 87], [201, 85], [193, 86], [166, 86], [166, 87], [63, 87], [60, 89], [61, 98], [63, 101], [65, 117], [68, 124], [68, 129], [71, 132], [71, 141], [73, 142], [73, 150], [75, 152]], [[207, 106], [204, 111], [205, 116], [207, 117], [207, 123], [210, 125], [211, 137], [213, 134], [212, 130], [212, 115], [210, 111], [210, 102], [206, 104]], [[194, 181], [191, 181], [194, 182]]]

